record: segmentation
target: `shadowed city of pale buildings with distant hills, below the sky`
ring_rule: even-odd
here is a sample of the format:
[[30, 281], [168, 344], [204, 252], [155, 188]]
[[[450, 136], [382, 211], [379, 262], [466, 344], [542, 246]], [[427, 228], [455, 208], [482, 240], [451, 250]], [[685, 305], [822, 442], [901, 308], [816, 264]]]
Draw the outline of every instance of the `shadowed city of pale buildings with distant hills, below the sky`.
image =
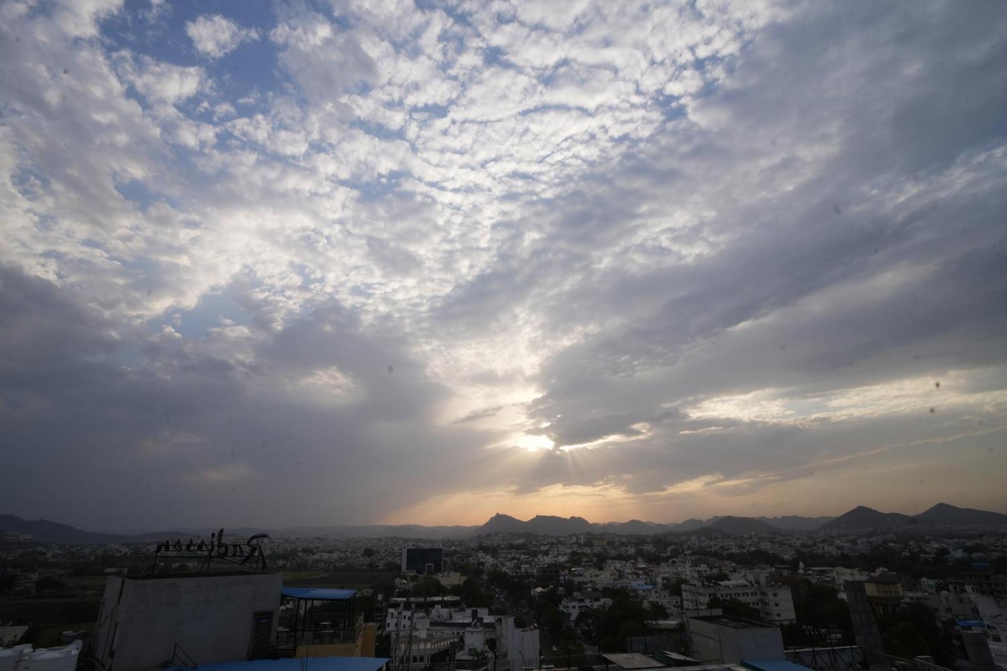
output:
[[16, 528], [0, 539], [3, 643], [94, 668], [1007, 665], [1007, 515], [946, 503], [679, 529], [496, 515], [440, 538], [357, 527], [117, 540], [0, 519]]

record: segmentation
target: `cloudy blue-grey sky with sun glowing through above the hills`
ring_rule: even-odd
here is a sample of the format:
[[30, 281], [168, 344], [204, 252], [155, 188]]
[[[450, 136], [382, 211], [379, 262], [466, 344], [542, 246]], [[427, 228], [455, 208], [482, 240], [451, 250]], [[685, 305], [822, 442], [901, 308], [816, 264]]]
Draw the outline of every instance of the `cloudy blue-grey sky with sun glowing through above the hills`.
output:
[[1007, 512], [1007, 4], [0, 0], [0, 512]]

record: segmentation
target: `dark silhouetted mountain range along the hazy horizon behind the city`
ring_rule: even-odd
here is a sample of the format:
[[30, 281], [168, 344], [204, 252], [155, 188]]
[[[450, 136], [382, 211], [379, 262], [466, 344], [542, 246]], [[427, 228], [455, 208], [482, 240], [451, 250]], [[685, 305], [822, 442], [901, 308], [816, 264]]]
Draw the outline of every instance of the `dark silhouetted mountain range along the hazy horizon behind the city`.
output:
[[[807, 532], [815, 530], [845, 531], [892, 529], [910, 525], [930, 526], [1007, 526], [1007, 515], [974, 508], [959, 508], [940, 503], [918, 515], [882, 513], [866, 506], [857, 506], [839, 517], [711, 517], [707, 520], [689, 519], [678, 524], [658, 524], [640, 520], [628, 522], [608, 522], [600, 524], [588, 522], [582, 517], [558, 517], [536, 515], [530, 520], [519, 520], [510, 515], [497, 513], [484, 524], [474, 526], [433, 526], [418, 524], [404, 525], [342, 525], [329, 527], [288, 527], [284, 529], [260, 529], [243, 527], [227, 529], [228, 533], [240, 536], [266, 532], [277, 538], [415, 538], [442, 539], [467, 538], [489, 534], [539, 534], [543, 536], [566, 536], [581, 533], [614, 533], [624, 536], [651, 535], [661, 533], [718, 533], [728, 536], [751, 534], [778, 534], [784, 532]], [[48, 520], [24, 520], [15, 515], [0, 515], [0, 531], [28, 534], [42, 543], [142, 543], [166, 538], [208, 538], [215, 529], [186, 529], [183, 531], [156, 531], [138, 534], [111, 534], [84, 531], [68, 524]]]

